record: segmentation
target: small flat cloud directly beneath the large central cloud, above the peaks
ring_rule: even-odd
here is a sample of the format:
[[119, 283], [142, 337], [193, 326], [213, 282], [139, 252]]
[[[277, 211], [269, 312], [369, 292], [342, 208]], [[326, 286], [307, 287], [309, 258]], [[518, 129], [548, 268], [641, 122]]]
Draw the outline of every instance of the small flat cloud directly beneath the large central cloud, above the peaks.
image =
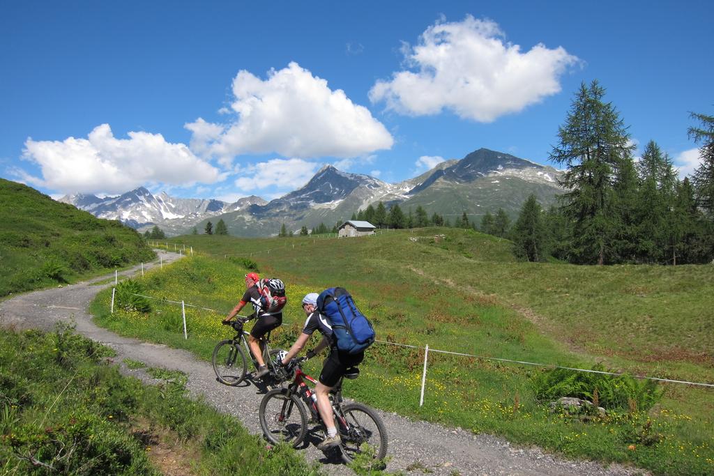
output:
[[[241, 168], [242, 176], [236, 179], [235, 185], [241, 191], [251, 193], [270, 187], [293, 191], [308, 183], [319, 166], [318, 163], [303, 161], [301, 158], [273, 158]], [[279, 192], [277, 194], [280, 195]]]

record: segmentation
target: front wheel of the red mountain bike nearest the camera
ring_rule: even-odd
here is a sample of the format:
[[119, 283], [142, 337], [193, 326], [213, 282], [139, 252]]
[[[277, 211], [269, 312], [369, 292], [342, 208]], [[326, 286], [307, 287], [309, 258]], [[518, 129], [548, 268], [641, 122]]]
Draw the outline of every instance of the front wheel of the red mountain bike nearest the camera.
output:
[[297, 447], [307, 433], [308, 416], [298, 396], [288, 398], [287, 393], [284, 388], [266, 393], [258, 407], [258, 419], [263, 435], [273, 445], [285, 442]]

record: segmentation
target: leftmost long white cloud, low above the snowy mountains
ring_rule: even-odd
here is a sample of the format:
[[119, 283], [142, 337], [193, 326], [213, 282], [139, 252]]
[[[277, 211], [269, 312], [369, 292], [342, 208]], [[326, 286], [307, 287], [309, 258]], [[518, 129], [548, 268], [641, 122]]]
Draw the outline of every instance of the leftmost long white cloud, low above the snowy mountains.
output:
[[28, 138], [23, 158], [41, 168], [42, 178], [26, 177], [31, 183], [63, 193], [124, 193], [147, 182], [213, 183], [221, 175], [182, 143], [146, 132], [129, 132], [128, 139], [118, 139], [109, 124], [97, 126], [86, 139]]

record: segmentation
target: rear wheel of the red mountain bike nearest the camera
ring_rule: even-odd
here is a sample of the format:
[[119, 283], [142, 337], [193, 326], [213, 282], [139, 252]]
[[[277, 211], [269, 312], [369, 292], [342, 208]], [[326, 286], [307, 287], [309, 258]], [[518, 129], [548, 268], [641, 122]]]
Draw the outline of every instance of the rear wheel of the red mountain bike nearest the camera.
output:
[[369, 452], [375, 460], [387, 455], [387, 430], [379, 415], [361, 403], [342, 406], [345, 421], [338, 418], [342, 440], [342, 459], [349, 463], [362, 452]]

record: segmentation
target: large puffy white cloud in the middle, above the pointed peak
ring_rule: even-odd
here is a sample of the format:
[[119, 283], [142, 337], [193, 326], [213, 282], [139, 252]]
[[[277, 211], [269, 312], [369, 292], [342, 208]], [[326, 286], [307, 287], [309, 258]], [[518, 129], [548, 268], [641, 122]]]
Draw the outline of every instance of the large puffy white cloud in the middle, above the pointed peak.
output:
[[393, 144], [391, 134], [366, 107], [353, 103], [341, 89], [332, 91], [327, 81], [295, 62], [269, 71], [265, 81], [239, 71], [233, 96], [235, 121], [218, 125], [199, 118], [186, 124], [193, 132], [193, 151], [229, 163], [246, 153], [349, 158]]

